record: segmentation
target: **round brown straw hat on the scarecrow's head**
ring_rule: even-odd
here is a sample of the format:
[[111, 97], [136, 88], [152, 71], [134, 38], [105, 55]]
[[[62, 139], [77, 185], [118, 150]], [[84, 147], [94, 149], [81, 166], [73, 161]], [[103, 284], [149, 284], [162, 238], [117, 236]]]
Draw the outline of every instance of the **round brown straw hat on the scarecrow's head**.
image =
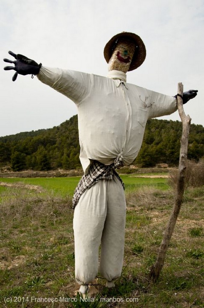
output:
[[133, 71], [145, 61], [145, 57], [146, 57], [145, 44], [143, 43], [142, 39], [135, 33], [124, 31], [124, 32], [114, 35], [112, 39], [108, 41], [108, 43], [106, 44], [104, 48], [104, 58], [106, 59], [106, 62], [108, 63], [112, 56], [116, 43], [118, 42], [118, 39], [120, 38], [129, 38], [136, 45], [135, 53], [133, 55], [133, 59], [129, 67], [129, 71]]

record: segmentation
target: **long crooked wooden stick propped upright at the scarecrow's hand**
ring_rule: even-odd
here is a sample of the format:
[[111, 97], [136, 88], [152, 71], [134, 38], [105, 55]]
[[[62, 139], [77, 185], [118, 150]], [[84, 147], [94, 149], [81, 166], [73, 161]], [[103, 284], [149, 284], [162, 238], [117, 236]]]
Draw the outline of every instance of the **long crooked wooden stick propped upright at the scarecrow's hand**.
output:
[[189, 115], [185, 115], [183, 110], [183, 85], [182, 83], [178, 83], [178, 94], [177, 95], [177, 108], [182, 120], [182, 138], [181, 138], [181, 148], [180, 148], [180, 157], [179, 157], [179, 167], [178, 167], [178, 177], [177, 177], [177, 191], [175, 204], [169, 218], [169, 222], [166, 226], [166, 230], [159, 247], [159, 252], [157, 255], [157, 259], [150, 270], [150, 278], [155, 282], [159, 278], [160, 272], [164, 265], [164, 259], [166, 255], [166, 251], [169, 246], [169, 242], [173, 233], [174, 226], [176, 224], [178, 214], [181, 209], [183, 193], [185, 189], [185, 173], [186, 173], [186, 162], [187, 162], [187, 152], [188, 152], [188, 136], [190, 130], [190, 121], [191, 118]]

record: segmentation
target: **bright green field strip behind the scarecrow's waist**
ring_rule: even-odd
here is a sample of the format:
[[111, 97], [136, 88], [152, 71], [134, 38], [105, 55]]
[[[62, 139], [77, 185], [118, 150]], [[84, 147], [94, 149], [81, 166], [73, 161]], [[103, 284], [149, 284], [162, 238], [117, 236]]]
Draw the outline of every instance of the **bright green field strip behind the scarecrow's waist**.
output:
[[[162, 173], [163, 175], [163, 173]], [[156, 178], [140, 177], [141, 175], [121, 175], [122, 180], [125, 184], [125, 189], [127, 191], [139, 188], [141, 186], [152, 186], [161, 190], [168, 189], [167, 179], [159, 177], [157, 174]], [[151, 176], [151, 174], [149, 174]], [[80, 176], [71, 177], [39, 177], [39, 178], [0, 178], [0, 182], [6, 182], [11, 184], [29, 184], [37, 185], [43, 188], [43, 190], [53, 191], [56, 194], [62, 196], [70, 195], [72, 196], [80, 180]], [[0, 186], [0, 192], [8, 189], [8, 187]]]

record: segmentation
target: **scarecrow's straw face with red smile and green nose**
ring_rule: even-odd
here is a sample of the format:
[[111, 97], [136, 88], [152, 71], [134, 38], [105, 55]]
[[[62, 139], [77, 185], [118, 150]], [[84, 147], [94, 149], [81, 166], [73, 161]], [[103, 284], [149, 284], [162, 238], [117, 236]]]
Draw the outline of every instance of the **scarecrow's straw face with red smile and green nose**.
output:
[[127, 73], [135, 52], [135, 44], [129, 39], [120, 39], [108, 62], [108, 71], [116, 70]]

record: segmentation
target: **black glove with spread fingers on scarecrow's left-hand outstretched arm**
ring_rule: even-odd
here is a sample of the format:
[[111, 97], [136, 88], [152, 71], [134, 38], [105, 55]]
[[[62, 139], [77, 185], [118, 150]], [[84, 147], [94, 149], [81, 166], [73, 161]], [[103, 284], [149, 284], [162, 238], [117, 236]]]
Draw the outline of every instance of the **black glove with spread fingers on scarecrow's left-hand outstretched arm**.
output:
[[16, 60], [8, 60], [8, 59], [3, 59], [4, 62], [8, 63], [14, 63], [15, 66], [6, 66], [4, 67], [5, 71], [8, 70], [14, 70], [16, 71], [15, 74], [13, 75], [12, 80], [15, 81], [18, 74], [20, 75], [37, 75], [39, 73], [41, 63], [38, 64], [34, 60], [31, 60], [23, 55], [16, 55], [12, 51], [9, 51], [9, 54], [12, 55]]

